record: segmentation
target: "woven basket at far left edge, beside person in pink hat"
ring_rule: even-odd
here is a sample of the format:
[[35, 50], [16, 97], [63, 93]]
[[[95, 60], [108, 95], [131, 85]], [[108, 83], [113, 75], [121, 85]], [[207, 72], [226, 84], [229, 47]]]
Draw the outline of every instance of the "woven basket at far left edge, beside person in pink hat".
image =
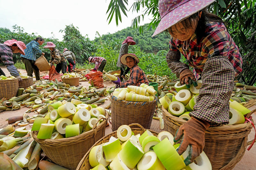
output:
[[0, 80], [0, 99], [6, 97], [10, 99], [17, 95], [19, 89], [19, 79]]

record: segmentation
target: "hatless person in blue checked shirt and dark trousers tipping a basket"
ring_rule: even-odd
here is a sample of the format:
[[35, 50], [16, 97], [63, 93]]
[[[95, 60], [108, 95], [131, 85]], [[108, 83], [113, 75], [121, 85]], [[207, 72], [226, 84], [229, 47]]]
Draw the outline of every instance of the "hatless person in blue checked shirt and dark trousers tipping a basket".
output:
[[25, 65], [28, 76], [33, 77], [33, 70], [36, 76], [36, 80], [40, 80], [40, 72], [35, 65], [36, 54], [44, 55], [44, 53], [39, 49], [39, 46], [44, 43], [42, 37], [37, 37], [36, 39], [30, 41], [26, 45], [25, 55], [20, 55], [22, 62]]

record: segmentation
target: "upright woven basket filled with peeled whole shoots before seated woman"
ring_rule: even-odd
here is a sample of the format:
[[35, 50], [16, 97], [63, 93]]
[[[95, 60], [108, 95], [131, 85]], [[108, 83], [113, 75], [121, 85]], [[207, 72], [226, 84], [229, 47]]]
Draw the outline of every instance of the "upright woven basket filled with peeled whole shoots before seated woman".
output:
[[111, 124], [112, 130], [117, 130], [121, 125], [139, 123], [150, 129], [152, 118], [156, 109], [157, 98], [153, 101], [136, 102], [118, 100], [111, 95]]

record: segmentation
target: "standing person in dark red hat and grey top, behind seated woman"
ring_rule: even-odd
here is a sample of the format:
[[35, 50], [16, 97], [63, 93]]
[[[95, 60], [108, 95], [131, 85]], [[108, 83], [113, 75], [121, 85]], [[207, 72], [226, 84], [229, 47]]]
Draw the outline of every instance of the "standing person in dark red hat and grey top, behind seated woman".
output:
[[136, 42], [133, 41], [133, 38], [128, 36], [121, 45], [120, 52], [119, 52], [118, 59], [117, 59], [117, 63], [116, 63], [116, 66], [120, 67], [120, 70], [121, 70], [121, 73], [120, 73], [120, 76], [121, 76], [120, 80], [121, 81], [123, 81], [123, 78], [125, 78], [125, 75], [129, 72], [130, 68], [127, 67], [127, 65], [122, 64], [121, 61], [120, 61], [120, 58], [121, 58], [122, 55], [128, 53], [128, 46], [129, 45], [135, 45], [135, 44], [136, 44]]

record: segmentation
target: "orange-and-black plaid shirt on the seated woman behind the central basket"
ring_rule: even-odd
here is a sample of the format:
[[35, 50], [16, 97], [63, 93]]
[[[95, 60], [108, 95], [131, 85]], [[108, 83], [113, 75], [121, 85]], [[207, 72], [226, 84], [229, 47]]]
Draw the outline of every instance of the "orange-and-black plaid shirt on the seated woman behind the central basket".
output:
[[136, 64], [131, 69], [130, 79], [120, 83], [120, 87], [127, 87], [128, 85], [140, 86], [142, 83], [149, 84], [148, 78], [143, 70]]

